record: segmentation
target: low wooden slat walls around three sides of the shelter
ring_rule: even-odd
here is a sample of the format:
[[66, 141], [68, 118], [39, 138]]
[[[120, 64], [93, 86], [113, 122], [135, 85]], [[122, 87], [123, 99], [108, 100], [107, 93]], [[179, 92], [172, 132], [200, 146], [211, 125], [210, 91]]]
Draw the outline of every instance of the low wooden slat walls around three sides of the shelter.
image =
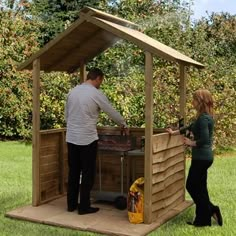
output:
[[[119, 134], [119, 128], [101, 128], [99, 133], [109, 133], [108, 131], [111, 134]], [[144, 129], [133, 128], [131, 133], [141, 137]], [[39, 172], [40, 204], [42, 204], [66, 193], [68, 166], [65, 129], [40, 131], [40, 139]], [[169, 136], [163, 133], [153, 135], [152, 159], [152, 207], [150, 211], [152, 221], [158, 221], [160, 217], [184, 201], [185, 161], [181, 136]], [[120, 192], [120, 157], [114, 156], [114, 153], [102, 153], [101, 161], [102, 191]], [[132, 157], [131, 167], [134, 167], [134, 171], [130, 173], [130, 177], [137, 179], [144, 176], [144, 157]], [[130, 179], [127, 180], [126, 174], [127, 160], [125, 159], [124, 193], [131, 183]], [[94, 190], [99, 190], [98, 173]]]

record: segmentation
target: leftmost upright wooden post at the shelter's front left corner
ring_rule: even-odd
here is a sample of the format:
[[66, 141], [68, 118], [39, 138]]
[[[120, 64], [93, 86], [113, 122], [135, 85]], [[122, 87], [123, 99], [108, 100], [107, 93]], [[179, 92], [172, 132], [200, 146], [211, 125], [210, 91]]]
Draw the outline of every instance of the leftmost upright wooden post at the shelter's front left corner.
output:
[[40, 204], [40, 59], [33, 62], [32, 205]]

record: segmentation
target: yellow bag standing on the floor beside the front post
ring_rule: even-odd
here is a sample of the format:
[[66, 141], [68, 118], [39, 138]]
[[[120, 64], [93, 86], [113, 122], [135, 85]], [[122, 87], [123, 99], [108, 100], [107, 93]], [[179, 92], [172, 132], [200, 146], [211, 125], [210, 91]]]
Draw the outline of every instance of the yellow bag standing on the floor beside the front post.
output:
[[143, 222], [144, 178], [138, 178], [131, 185], [128, 193], [128, 217], [130, 223]]

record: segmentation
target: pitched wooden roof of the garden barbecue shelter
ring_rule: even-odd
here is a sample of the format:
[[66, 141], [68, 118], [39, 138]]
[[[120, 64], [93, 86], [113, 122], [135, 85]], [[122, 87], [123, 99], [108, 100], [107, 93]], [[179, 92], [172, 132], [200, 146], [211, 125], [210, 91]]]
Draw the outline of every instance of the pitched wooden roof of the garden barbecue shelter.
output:
[[86, 7], [81, 11], [78, 20], [22, 63], [18, 69], [31, 70], [33, 61], [40, 58], [40, 69], [45, 72], [73, 72], [120, 39], [134, 43], [163, 59], [186, 66], [204, 67], [201, 63], [138, 31], [134, 23]]

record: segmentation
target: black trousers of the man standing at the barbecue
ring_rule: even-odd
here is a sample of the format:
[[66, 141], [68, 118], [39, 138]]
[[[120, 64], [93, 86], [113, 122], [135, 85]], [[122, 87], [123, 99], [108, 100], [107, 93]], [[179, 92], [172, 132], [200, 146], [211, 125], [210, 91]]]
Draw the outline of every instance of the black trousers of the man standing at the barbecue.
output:
[[[68, 188], [67, 207], [77, 209], [80, 194], [80, 209], [90, 207], [90, 192], [96, 173], [97, 140], [89, 145], [67, 143], [68, 147]], [[80, 174], [82, 174], [80, 184]]]

